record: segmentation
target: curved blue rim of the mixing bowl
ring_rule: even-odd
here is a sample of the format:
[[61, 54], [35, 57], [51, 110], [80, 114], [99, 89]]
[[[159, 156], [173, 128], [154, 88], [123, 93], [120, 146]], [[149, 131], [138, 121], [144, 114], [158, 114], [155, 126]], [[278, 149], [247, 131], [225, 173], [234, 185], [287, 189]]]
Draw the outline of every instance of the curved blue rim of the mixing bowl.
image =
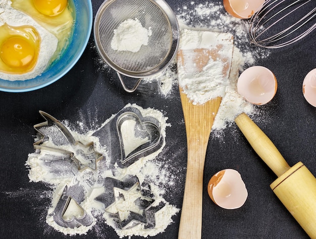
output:
[[[43, 84], [32, 86], [32, 87], [27, 87], [27, 88], [6, 88], [6, 87], [0, 86], [0, 91], [19, 93], [19, 92], [28, 92], [28, 91], [33, 91], [33, 90], [44, 88], [44, 87], [58, 81], [59, 79], [61, 79], [76, 65], [76, 63], [79, 61], [80, 57], [82, 56], [83, 52], [85, 51], [85, 48], [88, 44], [88, 41], [89, 41], [90, 35], [91, 35], [91, 31], [92, 31], [92, 22], [93, 22], [92, 1], [88, 0], [88, 1], [86, 1], [86, 3], [88, 5], [88, 14], [89, 14], [88, 20], [89, 20], [89, 22], [88, 22], [87, 26], [88, 26], [89, 30], [87, 32], [87, 35], [84, 38], [83, 45], [82, 45], [83, 47], [80, 49], [80, 51], [78, 51], [76, 56], [71, 59], [67, 68], [65, 68], [65, 70], [63, 72], [59, 72], [57, 74], [57, 77], [55, 77], [54, 79], [51, 79]], [[76, 4], [76, 3], [74, 3], [74, 4]]]

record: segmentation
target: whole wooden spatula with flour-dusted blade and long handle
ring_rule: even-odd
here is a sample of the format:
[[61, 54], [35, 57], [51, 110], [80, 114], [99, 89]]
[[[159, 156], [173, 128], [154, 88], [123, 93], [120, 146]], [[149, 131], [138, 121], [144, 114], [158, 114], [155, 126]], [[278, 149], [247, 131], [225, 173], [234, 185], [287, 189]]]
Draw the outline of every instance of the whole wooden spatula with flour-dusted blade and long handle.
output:
[[[195, 80], [195, 76], [197, 77], [202, 71], [207, 71], [208, 77], [212, 76], [215, 71], [209, 67], [209, 63], [221, 61], [223, 82], [226, 82], [233, 52], [231, 34], [196, 31], [196, 35], [199, 37], [194, 40], [185, 39], [186, 35], [182, 34], [178, 51], [179, 89], [188, 146], [185, 190], [178, 234], [178, 238], [181, 239], [201, 238], [205, 154], [210, 131], [222, 100], [221, 95], [218, 95], [216, 98], [199, 104], [198, 100], [188, 98], [184, 91], [188, 92], [189, 89], [182, 84], [184, 80], [182, 78], [187, 80], [191, 77]], [[192, 44], [193, 41], [194, 44]], [[188, 43], [185, 44], [186, 42]]]

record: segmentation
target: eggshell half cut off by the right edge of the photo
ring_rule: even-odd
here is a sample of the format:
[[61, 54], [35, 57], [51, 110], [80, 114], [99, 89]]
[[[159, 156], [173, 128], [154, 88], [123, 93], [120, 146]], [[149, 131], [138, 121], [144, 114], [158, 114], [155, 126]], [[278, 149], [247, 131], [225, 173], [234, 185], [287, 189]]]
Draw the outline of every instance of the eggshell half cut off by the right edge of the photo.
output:
[[303, 95], [308, 103], [316, 107], [316, 69], [306, 75], [303, 81]]

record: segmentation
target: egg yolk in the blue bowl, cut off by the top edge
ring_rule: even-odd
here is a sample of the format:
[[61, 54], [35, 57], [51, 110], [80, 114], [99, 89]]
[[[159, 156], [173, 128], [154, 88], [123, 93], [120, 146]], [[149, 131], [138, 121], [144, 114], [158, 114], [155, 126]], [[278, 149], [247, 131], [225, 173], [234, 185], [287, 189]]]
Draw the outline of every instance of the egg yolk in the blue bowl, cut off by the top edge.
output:
[[64, 11], [67, 0], [33, 0], [38, 12], [46, 16], [56, 16]]

